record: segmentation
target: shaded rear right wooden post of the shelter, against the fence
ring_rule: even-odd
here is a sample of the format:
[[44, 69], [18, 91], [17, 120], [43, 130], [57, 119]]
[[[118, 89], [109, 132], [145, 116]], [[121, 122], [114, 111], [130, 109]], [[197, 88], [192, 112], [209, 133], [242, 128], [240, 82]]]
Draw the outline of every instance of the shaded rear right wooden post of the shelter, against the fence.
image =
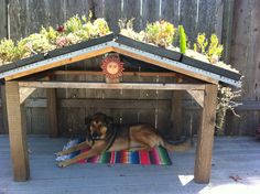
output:
[[174, 140], [178, 140], [182, 134], [182, 97], [183, 91], [182, 90], [175, 90], [173, 91], [172, 97], [172, 134]]

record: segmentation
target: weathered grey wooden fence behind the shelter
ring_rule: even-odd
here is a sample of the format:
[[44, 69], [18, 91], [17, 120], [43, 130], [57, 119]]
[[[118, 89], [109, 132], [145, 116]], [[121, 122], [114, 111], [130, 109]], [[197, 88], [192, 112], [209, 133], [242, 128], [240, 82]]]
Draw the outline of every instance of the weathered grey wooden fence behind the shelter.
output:
[[[227, 48], [224, 58], [234, 64], [243, 75], [243, 106], [239, 107], [240, 118], [228, 115], [227, 133], [252, 134], [257, 126], [260, 126], [260, 35], [259, 21], [260, 1], [258, 0], [2, 0], [0, 1], [0, 37], [19, 40], [31, 33], [37, 32], [43, 26], [56, 26], [75, 14], [87, 14], [91, 10], [95, 18], [104, 17], [113, 31], [118, 30], [117, 21], [120, 18], [134, 17], [134, 29], [144, 29], [147, 22], [167, 20], [175, 25], [183, 24], [191, 44], [199, 32], [207, 35], [216, 33]], [[88, 63], [88, 62], [86, 62]], [[84, 67], [85, 68], [85, 67]], [[72, 77], [69, 77], [72, 78]], [[85, 79], [86, 77], [82, 77]], [[64, 95], [65, 93], [65, 95]], [[82, 95], [82, 94], [85, 95]], [[122, 91], [121, 91], [122, 93]], [[139, 91], [137, 91], [139, 94]], [[3, 93], [2, 93], [3, 94]], [[89, 94], [90, 97], [88, 96]], [[80, 96], [82, 95], [82, 96]], [[126, 99], [128, 94], [116, 94]], [[137, 99], [156, 99], [154, 94], [151, 98], [145, 97], [143, 91]], [[86, 110], [79, 109], [73, 100], [80, 98], [110, 98], [111, 93], [93, 90], [61, 91], [58, 117], [59, 128], [73, 130], [80, 128], [83, 116]], [[160, 100], [169, 99], [169, 95], [161, 94]], [[188, 98], [185, 98], [188, 99]], [[184, 100], [185, 100], [184, 99]], [[2, 99], [3, 101], [4, 99]], [[129, 99], [128, 99], [129, 100]], [[187, 100], [188, 101], [188, 100]], [[98, 104], [98, 101], [97, 101]], [[162, 103], [161, 114], [169, 114]], [[186, 103], [191, 105], [189, 103]], [[185, 105], [186, 105], [185, 104]], [[67, 107], [69, 105], [69, 107]], [[25, 105], [29, 133], [46, 133], [46, 99], [45, 90], [37, 89]], [[193, 106], [184, 107], [185, 128], [196, 128], [198, 116]], [[2, 106], [3, 109], [3, 106]], [[66, 111], [65, 111], [66, 110]], [[95, 111], [93, 109], [93, 111]], [[137, 110], [134, 117], [139, 117]], [[161, 111], [161, 110], [160, 110]], [[1, 111], [2, 112], [2, 111]], [[119, 118], [123, 116], [118, 111]], [[133, 114], [133, 112], [132, 112]], [[139, 112], [141, 114], [141, 112]], [[144, 112], [143, 115], [147, 115]], [[153, 111], [147, 117], [152, 117]], [[159, 114], [160, 115], [160, 114]], [[128, 118], [129, 119], [129, 118]], [[127, 119], [127, 120], [128, 120]], [[6, 118], [0, 116], [0, 132], [7, 132]], [[187, 130], [187, 129], [186, 129]]]

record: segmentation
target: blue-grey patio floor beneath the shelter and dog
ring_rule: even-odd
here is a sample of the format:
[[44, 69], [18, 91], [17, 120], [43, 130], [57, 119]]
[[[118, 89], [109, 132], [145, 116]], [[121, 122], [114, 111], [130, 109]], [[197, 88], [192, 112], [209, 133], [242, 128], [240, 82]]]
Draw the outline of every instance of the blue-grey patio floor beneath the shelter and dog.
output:
[[8, 136], [0, 136], [0, 194], [257, 194], [260, 191], [260, 141], [251, 137], [215, 138], [209, 184], [193, 182], [194, 148], [171, 153], [171, 166], [76, 164], [58, 169], [54, 153], [66, 141], [64, 138], [30, 136], [31, 179], [18, 183], [12, 181]]

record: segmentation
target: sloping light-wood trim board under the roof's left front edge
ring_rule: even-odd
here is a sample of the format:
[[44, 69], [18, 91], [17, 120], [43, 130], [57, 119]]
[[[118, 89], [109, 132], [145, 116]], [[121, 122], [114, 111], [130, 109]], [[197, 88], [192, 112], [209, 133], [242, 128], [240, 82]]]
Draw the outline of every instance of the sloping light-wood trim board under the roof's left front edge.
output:
[[55, 62], [55, 63], [50, 63], [50, 64], [46, 63], [46, 65], [44, 65], [42, 67], [36, 67], [36, 68], [32, 68], [32, 69], [26, 71], [26, 72], [18, 73], [18, 74], [8, 76], [4, 79], [6, 80], [15, 79], [15, 78], [23, 77], [23, 76], [26, 76], [26, 75], [31, 75], [31, 74], [35, 74], [35, 73], [39, 73], [39, 72], [47, 71], [47, 69], [51, 69], [51, 68], [54, 68], [54, 67], [63, 66], [63, 65], [66, 65], [66, 64], [69, 64], [69, 63], [75, 63], [75, 62], [79, 62], [79, 61], [87, 60], [87, 58], [90, 58], [90, 57], [95, 57], [95, 56], [98, 56], [98, 55], [101, 55], [101, 54], [105, 54], [105, 53], [108, 53], [108, 52], [111, 52], [111, 51], [112, 51], [112, 47], [105, 47], [105, 48], [101, 48], [101, 50], [98, 50], [98, 51], [95, 51], [95, 52], [78, 55], [78, 56], [73, 57], [73, 58], [62, 60], [62, 61], [58, 61], [58, 62]]

